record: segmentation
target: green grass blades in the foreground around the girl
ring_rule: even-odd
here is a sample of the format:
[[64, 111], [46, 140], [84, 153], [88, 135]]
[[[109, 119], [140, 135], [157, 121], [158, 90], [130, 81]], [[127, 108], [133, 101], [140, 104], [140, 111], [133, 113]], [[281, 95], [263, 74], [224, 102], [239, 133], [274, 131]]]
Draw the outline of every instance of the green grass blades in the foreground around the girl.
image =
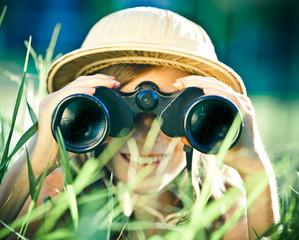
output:
[[[0, 25], [4, 15], [1, 15]], [[22, 96], [24, 93], [24, 86], [26, 85], [26, 70], [29, 52], [34, 58], [36, 68], [39, 72], [40, 88], [45, 87], [45, 70], [53, 62], [53, 51], [55, 42], [58, 36], [59, 26], [55, 29], [53, 38], [50, 43], [50, 47], [47, 50], [46, 57], [37, 55], [31, 48], [31, 40], [26, 43], [27, 55], [24, 64], [24, 74], [22, 82], [20, 84], [16, 103], [14, 106], [13, 116], [9, 121], [9, 132], [4, 131], [5, 124], [1, 118], [1, 135], [0, 135], [0, 149], [1, 149], [1, 165], [0, 165], [0, 181], [5, 176], [9, 168], [9, 162], [16, 157], [16, 153], [22, 149], [27, 151], [24, 147], [25, 143], [30, 137], [37, 131], [37, 117], [33, 109], [27, 102], [27, 110], [32, 121], [32, 127], [29, 128], [16, 143], [12, 144], [12, 134], [17, 128], [15, 125], [18, 109], [21, 104]], [[38, 93], [40, 98], [44, 96], [43, 90]], [[154, 124], [157, 126], [157, 123]], [[157, 135], [157, 128], [153, 128], [150, 131], [149, 137], [145, 144], [145, 150], [150, 149], [153, 144], [153, 140]], [[274, 130], [274, 129], [273, 129]], [[66, 154], [63, 139], [60, 133], [57, 133], [57, 139], [59, 143], [59, 151], [62, 156], [61, 166], [64, 170], [64, 191], [59, 194], [55, 199], [44, 199], [44, 203], [36, 207], [37, 197], [39, 195], [40, 188], [43, 184], [46, 172], [42, 176], [39, 187], [36, 189], [36, 181], [33, 177], [32, 168], [30, 165], [29, 156], [28, 160], [28, 175], [30, 179], [30, 195], [33, 199], [27, 214], [18, 218], [12, 223], [5, 223], [5, 227], [0, 229], [0, 239], [4, 238], [10, 233], [18, 235], [19, 239], [26, 239], [25, 233], [27, 226], [30, 222], [35, 220], [42, 220], [42, 225], [38, 229], [35, 239], [116, 239], [120, 233], [125, 232], [128, 236], [127, 239], [131, 239], [130, 231], [134, 230], [137, 233], [139, 239], [142, 238], [142, 231], [152, 228], [153, 226], [160, 229], [171, 230], [165, 235], [151, 236], [151, 240], [156, 239], [221, 239], [223, 235], [232, 227], [232, 225], [240, 218], [245, 209], [236, 211], [233, 218], [215, 231], [211, 236], [206, 235], [205, 229], [211, 227], [211, 223], [217, 219], [221, 214], [223, 208], [228, 209], [238, 196], [240, 191], [236, 188], [232, 188], [227, 191], [224, 196], [217, 200], [207, 202], [208, 193], [211, 188], [213, 174], [211, 178], [207, 178], [201, 189], [200, 198], [195, 201], [192, 196], [188, 195], [188, 191], [184, 188], [186, 184], [184, 178], [178, 177], [173, 183], [169, 185], [169, 190], [173, 191], [178, 198], [183, 202], [183, 209], [180, 210], [181, 217], [184, 217], [186, 212], [193, 206], [190, 220], [178, 226], [170, 224], [159, 224], [152, 222], [135, 221], [128, 217], [131, 211], [132, 202], [124, 201], [128, 199], [128, 196], [132, 195], [134, 186], [138, 181], [145, 178], [147, 174], [151, 172], [151, 169], [144, 168], [132, 182], [127, 185], [121, 184], [118, 186], [118, 191], [115, 193], [115, 186], [112, 185], [113, 176], [109, 179], [108, 187], [101, 184], [95, 184], [101, 178], [103, 178], [103, 167], [111, 159], [111, 157], [117, 152], [117, 150], [124, 144], [126, 139], [115, 139], [111, 144], [103, 151], [103, 153], [97, 158], [90, 158], [86, 161], [83, 167], [78, 170], [75, 176], [71, 173], [71, 164]], [[221, 164], [227, 149], [226, 144], [220, 151], [218, 161]], [[129, 148], [134, 154], [136, 153], [136, 143], [134, 140], [129, 141]], [[12, 149], [11, 151], [9, 149]], [[135, 149], [135, 150], [134, 150]], [[170, 147], [171, 149], [171, 147]], [[281, 228], [274, 226], [269, 229], [269, 233], [272, 234], [272, 239], [298, 239], [299, 238], [299, 187], [298, 187], [298, 151], [285, 151], [282, 152], [280, 157], [275, 159], [274, 169], [279, 180], [279, 197], [281, 204]], [[259, 185], [255, 188], [252, 197], [248, 199], [248, 205], [250, 205], [256, 198], [258, 198], [261, 191], [267, 184], [267, 180], [264, 177], [256, 176], [253, 181], [258, 181]], [[93, 186], [91, 188], [91, 186]], [[177, 186], [183, 186], [182, 191], [176, 192]], [[90, 191], [86, 191], [86, 188], [91, 188]], [[142, 200], [142, 199], [141, 199]], [[142, 201], [141, 201], [142, 202]], [[248, 205], [246, 207], [248, 207]], [[0, 211], [5, 206], [1, 206]], [[70, 217], [65, 217], [65, 213], [69, 213]], [[59, 222], [59, 225], [58, 225]], [[18, 232], [16, 232], [17, 229]], [[261, 236], [259, 236], [261, 237]]]

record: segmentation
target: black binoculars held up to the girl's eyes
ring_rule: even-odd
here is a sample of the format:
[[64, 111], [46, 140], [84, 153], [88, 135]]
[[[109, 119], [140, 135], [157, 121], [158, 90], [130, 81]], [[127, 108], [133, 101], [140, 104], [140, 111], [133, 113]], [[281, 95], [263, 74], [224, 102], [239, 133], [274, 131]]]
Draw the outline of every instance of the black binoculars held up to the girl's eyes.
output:
[[[85, 153], [101, 146], [107, 137], [125, 137], [136, 116], [148, 112], [160, 120], [169, 137], [185, 136], [202, 153], [216, 153], [240, 111], [227, 98], [204, 96], [189, 87], [165, 93], [153, 82], [140, 83], [133, 92], [97, 87], [93, 96], [74, 94], [63, 99], [52, 115], [52, 133], [60, 128], [66, 149]], [[235, 131], [233, 147], [241, 136], [243, 122]]]

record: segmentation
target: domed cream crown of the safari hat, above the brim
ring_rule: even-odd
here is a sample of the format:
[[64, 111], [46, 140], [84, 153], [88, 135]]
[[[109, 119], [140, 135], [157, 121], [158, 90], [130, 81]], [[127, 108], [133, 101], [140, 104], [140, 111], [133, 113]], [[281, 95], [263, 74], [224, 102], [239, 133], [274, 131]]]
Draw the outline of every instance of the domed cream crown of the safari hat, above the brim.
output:
[[125, 9], [102, 18], [90, 30], [81, 48], [104, 43], [166, 44], [217, 60], [209, 36], [199, 25], [172, 11], [153, 7]]

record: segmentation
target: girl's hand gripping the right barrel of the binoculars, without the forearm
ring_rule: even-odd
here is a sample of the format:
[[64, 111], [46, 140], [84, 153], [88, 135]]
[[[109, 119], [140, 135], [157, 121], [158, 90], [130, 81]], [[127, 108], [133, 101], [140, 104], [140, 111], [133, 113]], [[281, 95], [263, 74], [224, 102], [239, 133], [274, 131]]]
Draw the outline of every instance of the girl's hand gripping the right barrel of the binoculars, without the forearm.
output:
[[235, 103], [243, 113], [244, 128], [240, 140], [228, 151], [224, 163], [236, 169], [241, 176], [251, 175], [263, 169], [260, 154], [264, 153], [264, 148], [258, 133], [254, 108], [246, 95], [234, 91], [230, 86], [213, 77], [190, 75], [177, 79], [173, 85], [178, 90], [198, 87], [205, 95], [223, 96]]

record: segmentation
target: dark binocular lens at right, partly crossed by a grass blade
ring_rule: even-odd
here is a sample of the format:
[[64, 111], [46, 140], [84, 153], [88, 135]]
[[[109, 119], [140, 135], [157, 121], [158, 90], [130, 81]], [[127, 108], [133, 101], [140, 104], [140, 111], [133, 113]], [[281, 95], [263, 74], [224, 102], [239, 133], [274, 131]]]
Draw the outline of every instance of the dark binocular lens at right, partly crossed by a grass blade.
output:
[[237, 114], [237, 108], [229, 100], [217, 96], [203, 97], [189, 108], [186, 137], [200, 151], [216, 153]]

